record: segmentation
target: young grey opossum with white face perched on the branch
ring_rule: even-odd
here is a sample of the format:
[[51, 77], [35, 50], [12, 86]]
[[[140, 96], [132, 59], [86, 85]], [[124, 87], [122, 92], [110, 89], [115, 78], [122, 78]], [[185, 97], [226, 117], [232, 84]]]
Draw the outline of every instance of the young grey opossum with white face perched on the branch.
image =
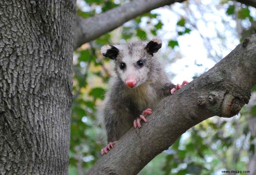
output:
[[141, 120], [147, 122], [146, 115], [152, 113], [160, 100], [188, 83], [171, 83], [161, 61], [154, 56], [161, 46], [162, 41], [157, 37], [149, 42], [102, 46], [102, 55], [115, 62], [115, 74], [110, 78], [110, 88], [103, 101], [109, 144], [101, 150], [102, 155], [111, 150], [132, 125], [141, 128]]

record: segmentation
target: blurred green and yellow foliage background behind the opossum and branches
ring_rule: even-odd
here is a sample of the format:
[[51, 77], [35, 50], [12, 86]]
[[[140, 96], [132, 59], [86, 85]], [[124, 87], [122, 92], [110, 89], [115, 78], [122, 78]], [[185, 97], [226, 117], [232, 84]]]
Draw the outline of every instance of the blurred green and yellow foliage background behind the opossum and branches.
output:
[[[129, 0], [78, 0], [77, 13], [88, 18], [128, 2]], [[167, 6], [153, 10], [83, 44], [74, 52], [70, 175], [85, 174], [101, 156], [100, 150], [106, 145], [106, 134], [100, 125], [97, 105], [104, 99], [107, 81], [113, 74], [113, 63], [101, 56], [100, 47], [109, 43], [124, 43], [129, 39], [151, 39], [159, 35], [163, 39], [159, 57], [167, 65], [171, 65], [183, 57], [179, 38], [198, 31], [203, 41], [202, 50], [207, 51], [207, 58], [217, 63], [225, 56], [223, 50], [229, 53], [234, 49], [233, 46], [228, 46], [228, 40], [231, 43], [233, 40], [242, 41], [255, 33], [256, 18], [253, 7], [228, 0], [213, 2], [203, 4], [198, 0], [189, 0], [183, 4], [174, 4], [177, 8]], [[166, 11], [176, 15], [174, 30], [168, 29]], [[207, 29], [211, 27], [211, 22], [216, 23], [214, 16], [207, 18], [207, 13], [219, 15], [225, 26], [222, 31], [215, 26], [214, 36], [207, 35], [207, 30], [202, 31], [198, 25], [201, 22]], [[230, 34], [227, 35], [225, 31]], [[193, 42], [197, 44], [196, 40]], [[196, 61], [194, 64], [198, 68], [202, 67]], [[207, 70], [203, 72], [205, 71]], [[174, 78], [178, 72], [168, 73], [170, 78]], [[191, 76], [196, 78], [200, 74], [194, 73]], [[253, 90], [256, 91], [256, 88]], [[173, 146], [149, 162], [139, 174], [198, 175], [221, 174], [223, 170], [249, 170], [252, 161], [256, 159], [255, 99], [255, 92], [252, 92], [249, 105], [243, 107], [239, 115], [233, 118], [212, 117], [189, 129]]]

